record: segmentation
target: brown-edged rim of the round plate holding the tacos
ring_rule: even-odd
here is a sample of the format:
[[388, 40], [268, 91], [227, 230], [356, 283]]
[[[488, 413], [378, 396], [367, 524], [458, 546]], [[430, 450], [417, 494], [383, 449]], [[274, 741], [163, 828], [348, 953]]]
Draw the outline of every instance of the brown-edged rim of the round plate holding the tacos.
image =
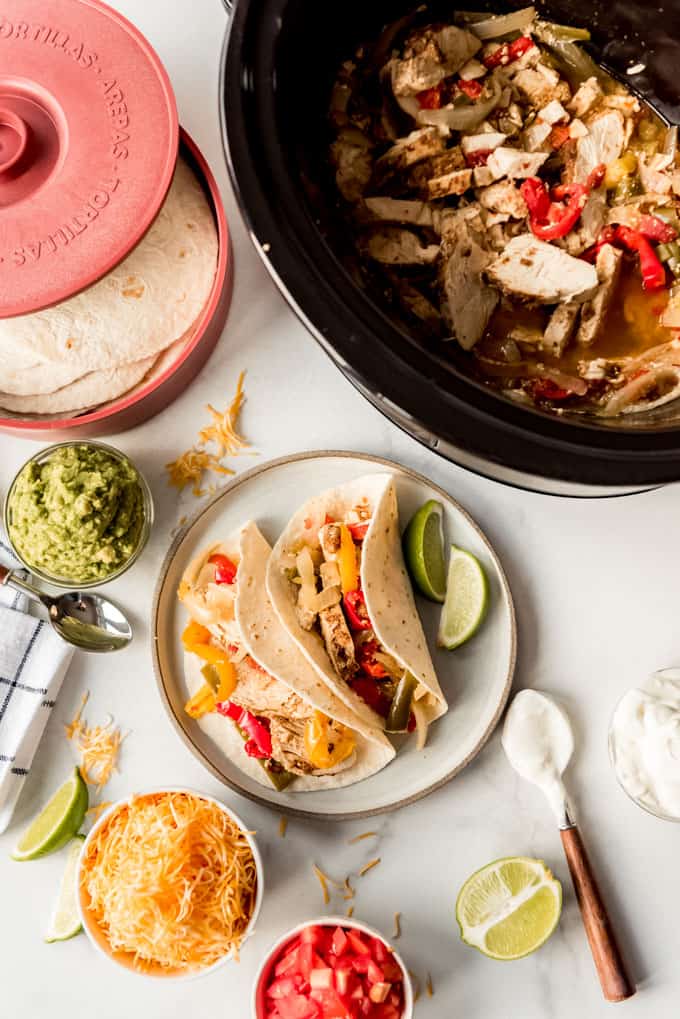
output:
[[[197, 744], [190, 738], [185, 727], [177, 718], [174, 710], [172, 709], [170, 698], [165, 687], [165, 680], [163, 677], [163, 672], [161, 669], [160, 658], [158, 653], [158, 644], [160, 640], [159, 630], [158, 630], [160, 599], [165, 586], [167, 574], [178, 551], [179, 545], [189, 536], [189, 533], [197, 526], [197, 524], [205, 516], [205, 514], [209, 513], [210, 509], [212, 509], [212, 507], [215, 505], [215, 503], [218, 502], [220, 499], [228, 497], [242, 485], [248, 484], [250, 481], [253, 480], [253, 478], [259, 477], [260, 475], [265, 474], [268, 471], [277, 470], [278, 468], [284, 467], [287, 464], [301, 463], [307, 460], [320, 460], [329, 458], [337, 458], [337, 459], [349, 458], [351, 460], [363, 461], [364, 463], [367, 464], [374, 464], [380, 467], [386, 467], [390, 471], [394, 471], [397, 474], [406, 475], [407, 477], [410, 477], [412, 480], [417, 481], [419, 484], [426, 485], [428, 488], [431, 488], [434, 492], [436, 492], [437, 495], [439, 495], [446, 502], [453, 505], [453, 507], [463, 516], [467, 524], [476, 532], [477, 536], [483, 542], [493, 562], [493, 566], [495, 567], [499, 580], [501, 582], [501, 587], [503, 589], [503, 592], [507, 600], [509, 616], [510, 616], [510, 658], [508, 662], [508, 672], [506, 674], [506, 680], [503, 687], [503, 693], [501, 695], [498, 707], [493, 712], [490, 721], [484, 729], [484, 732], [481, 734], [480, 738], [477, 740], [475, 746], [469, 751], [468, 754], [466, 754], [463, 760], [460, 761], [456, 765], [456, 767], [452, 768], [451, 771], [448, 771], [447, 774], [443, 775], [441, 779], [437, 779], [435, 782], [431, 783], [425, 789], [422, 789], [417, 793], [412, 793], [410, 796], [405, 796], [401, 800], [398, 800], [395, 803], [370, 809], [343, 811], [342, 813], [336, 813], [336, 814], [317, 813], [314, 810], [305, 810], [302, 807], [294, 807], [290, 806], [289, 804], [285, 804], [284, 807], [282, 805], [277, 805], [275, 803], [272, 803], [270, 800], [267, 800], [264, 796], [260, 796], [257, 793], [253, 793], [250, 790], [244, 789], [243, 787], [239, 786], [236, 782], [228, 779], [225, 774], [223, 774], [219, 770], [219, 768], [210, 760], [208, 755], [204, 753], [204, 751], [199, 746], [197, 746]], [[276, 457], [273, 460], [267, 460], [262, 464], [257, 464], [255, 467], [252, 467], [248, 471], [244, 471], [242, 474], [238, 474], [234, 478], [232, 478], [225, 485], [223, 485], [217, 492], [215, 492], [208, 499], [207, 502], [199, 506], [196, 509], [196, 512], [192, 514], [192, 516], [186, 521], [182, 527], [173, 535], [170, 544], [165, 552], [165, 555], [163, 556], [163, 560], [161, 562], [158, 572], [158, 578], [156, 580], [156, 585], [154, 587], [152, 596], [151, 638], [152, 638], [151, 658], [152, 658], [154, 678], [156, 680], [156, 687], [158, 689], [158, 693], [160, 694], [161, 703], [163, 705], [165, 713], [168, 716], [172, 725], [172, 728], [174, 729], [175, 733], [178, 735], [179, 739], [185, 744], [187, 749], [190, 751], [190, 753], [193, 754], [194, 757], [196, 757], [197, 760], [201, 762], [201, 764], [203, 764], [204, 767], [208, 769], [208, 771], [213, 775], [213, 777], [217, 779], [218, 782], [220, 782], [223, 786], [226, 786], [232, 792], [238, 793], [240, 796], [243, 796], [246, 799], [251, 800], [252, 802], [257, 803], [260, 806], [267, 807], [269, 810], [283, 809], [286, 814], [290, 814], [293, 817], [301, 817], [306, 820], [325, 820], [329, 822], [361, 820], [363, 818], [376, 817], [379, 814], [391, 813], [395, 810], [401, 810], [403, 807], [408, 807], [412, 803], [416, 803], [418, 800], [425, 799], [425, 797], [429, 796], [430, 794], [436, 792], [438, 789], [441, 789], [443, 786], [448, 785], [452, 781], [452, 779], [455, 779], [457, 774], [459, 774], [465, 767], [467, 767], [468, 764], [471, 763], [471, 761], [481, 752], [483, 747], [490, 739], [492, 733], [494, 732], [496, 726], [499, 725], [499, 721], [501, 720], [501, 716], [503, 715], [503, 712], [506, 708], [506, 704], [508, 703], [508, 698], [510, 697], [510, 692], [512, 690], [512, 685], [513, 685], [513, 679], [515, 676], [515, 669], [517, 666], [517, 614], [515, 611], [515, 602], [513, 599], [513, 594], [510, 588], [510, 584], [508, 582], [508, 578], [506, 576], [506, 572], [503, 568], [503, 564], [495, 551], [495, 548], [489, 541], [484, 531], [479, 527], [477, 522], [473, 520], [468, 511], [465, 509], [465, 507], [462, 506], [460, 502], [454, 498], [453, 495], [451, 495], [448, 491], [446, 491], [446, 489], [441, 488], [440, 485], [437, 485], [434, 481], [431, 481], [429, 478], [426, 478], [425, 475], [420, 474], [418, 471], [414, 471], [410, 467], [405, 467], [404, 465], [398, 464], [393, 460], [388, 460], [387, 458], [377, 457], [374, 455], [373, 453], [357, 452], [352, 449], [308, 449], [302, 452], [287, 453], [283, 457]]]

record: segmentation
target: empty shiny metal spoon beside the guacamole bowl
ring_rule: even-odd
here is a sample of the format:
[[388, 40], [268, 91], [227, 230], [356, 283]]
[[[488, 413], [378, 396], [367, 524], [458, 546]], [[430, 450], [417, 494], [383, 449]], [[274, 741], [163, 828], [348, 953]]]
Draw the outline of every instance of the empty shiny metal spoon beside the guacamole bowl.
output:
[[83, 651], [119, 651], [133, 639], [133, 628], [125, 616], [101, 594], [69, 591], [53, 598], [0, 566], [0, 586], [3, 584], [42, 602], [53, 629]]

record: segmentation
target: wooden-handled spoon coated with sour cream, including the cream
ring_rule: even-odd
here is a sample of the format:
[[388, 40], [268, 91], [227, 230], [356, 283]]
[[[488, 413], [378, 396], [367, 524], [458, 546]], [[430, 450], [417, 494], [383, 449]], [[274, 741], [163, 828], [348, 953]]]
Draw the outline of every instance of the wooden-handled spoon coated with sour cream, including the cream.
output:
[[523, 779], [542, 790], [557, 817], [605, 998], [608, 1002], [632, 998], [635, 986], [626, 973], [612, 922], [562, 781], [574, 751], [574, 734], [567, 713], [546, 694], [537, 690], [521, 690], [510, 705], [502, 742], [512, 766]]

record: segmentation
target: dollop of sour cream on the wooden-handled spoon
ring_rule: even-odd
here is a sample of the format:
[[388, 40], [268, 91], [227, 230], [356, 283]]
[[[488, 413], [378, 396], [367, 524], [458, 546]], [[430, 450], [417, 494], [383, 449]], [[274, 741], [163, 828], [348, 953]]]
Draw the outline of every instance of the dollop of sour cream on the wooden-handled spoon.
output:
[[508, 710], [502, 742], [512, 766], [543, 791], [563, 824], [567, 797], [562, 772], [574, 750], [565, 711], [547, 694], [521, 690]]

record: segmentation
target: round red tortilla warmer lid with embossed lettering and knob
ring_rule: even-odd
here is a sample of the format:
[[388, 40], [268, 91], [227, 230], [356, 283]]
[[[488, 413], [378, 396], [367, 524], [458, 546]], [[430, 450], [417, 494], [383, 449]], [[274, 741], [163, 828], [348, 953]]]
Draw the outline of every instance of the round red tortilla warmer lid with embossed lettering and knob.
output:
[[177, 158], [167, 73], [100, 0], [0, 11], [0, 318], [59, 303], [144, 236]]

